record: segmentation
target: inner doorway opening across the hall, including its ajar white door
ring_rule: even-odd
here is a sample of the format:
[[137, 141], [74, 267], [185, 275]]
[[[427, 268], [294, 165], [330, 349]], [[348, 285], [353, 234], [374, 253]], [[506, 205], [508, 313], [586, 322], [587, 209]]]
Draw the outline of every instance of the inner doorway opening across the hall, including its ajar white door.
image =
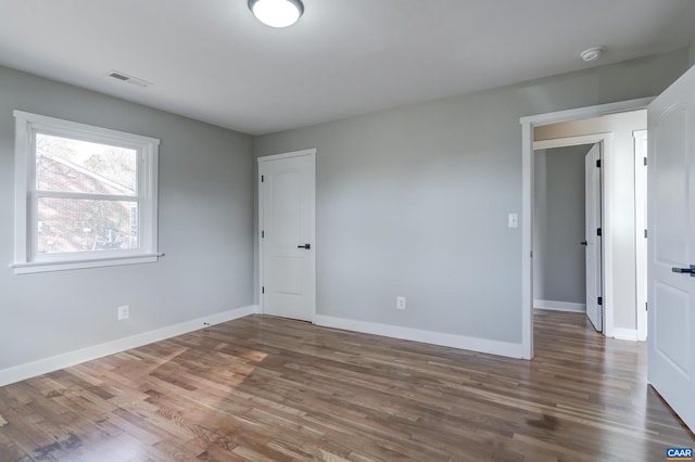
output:
[[583, 313], [603, 332], [603, 142], [567, 144], [578, 142], [534, 151], [533, 307]]

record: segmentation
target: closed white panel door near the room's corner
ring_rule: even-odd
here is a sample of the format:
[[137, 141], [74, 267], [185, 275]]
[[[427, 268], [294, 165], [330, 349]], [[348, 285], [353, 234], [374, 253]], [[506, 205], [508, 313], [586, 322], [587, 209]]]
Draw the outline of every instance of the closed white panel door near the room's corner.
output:
[[258, 158], [261, 305], [313, 321], [316, 305], [316, 151]]

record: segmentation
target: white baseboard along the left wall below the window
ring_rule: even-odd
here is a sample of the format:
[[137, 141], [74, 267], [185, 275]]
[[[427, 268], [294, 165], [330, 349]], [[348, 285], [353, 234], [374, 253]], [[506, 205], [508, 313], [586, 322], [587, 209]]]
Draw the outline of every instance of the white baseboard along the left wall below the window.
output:
[[70, 368], [71, 365], [81, 362], [91, 361], [92, 359], [102, 358], [109, 355], [115, 355], [131, 348], [137, 348], [153, 342], [160, 342], [177, 335], [186, 334], [206, 325], [219, 324], [231, 321], [244, 316], [254, 315], [260, 311], [257, 305], [250, 305], [242, 308], [231, 309], [229, 311], [218, 312], [203, 318], [193, 319], [191, 321], [181, 322], [179, 324], [167, 325], [166, 328], [156, 329], [154, 331], [143, 332], [116, 341], [106, 342], [100, 345], [81, 348], [74, 351], [64, 352], [52, 356], [50, 358], [39, 359], [37, 361], [27, 362], [12, 368], [0, 370], [0, 386], [20, 382], [37, 375], [47, 374], [59, 369]]

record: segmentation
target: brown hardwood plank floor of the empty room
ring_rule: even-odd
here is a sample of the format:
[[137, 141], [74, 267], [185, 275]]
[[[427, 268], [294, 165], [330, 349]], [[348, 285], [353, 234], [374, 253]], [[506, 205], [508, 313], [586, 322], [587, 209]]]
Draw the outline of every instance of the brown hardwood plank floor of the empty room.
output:
[[0, 388], [0, 460], [661, 461], [644, 344], [539, 311], [535, 359], [252, 316]]

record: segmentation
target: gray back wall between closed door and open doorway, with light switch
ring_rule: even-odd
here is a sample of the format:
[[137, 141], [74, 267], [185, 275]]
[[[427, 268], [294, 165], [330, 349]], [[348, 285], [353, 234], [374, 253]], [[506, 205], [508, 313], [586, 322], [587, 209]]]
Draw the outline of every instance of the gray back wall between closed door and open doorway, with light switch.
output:
[[521, 233], [506, 226], [521, 208], [519, 117], [657, 94], [687, 61], [684, 49], [256, 138], [256, 156], [318, 149], [319, 315], [520, 343]]

